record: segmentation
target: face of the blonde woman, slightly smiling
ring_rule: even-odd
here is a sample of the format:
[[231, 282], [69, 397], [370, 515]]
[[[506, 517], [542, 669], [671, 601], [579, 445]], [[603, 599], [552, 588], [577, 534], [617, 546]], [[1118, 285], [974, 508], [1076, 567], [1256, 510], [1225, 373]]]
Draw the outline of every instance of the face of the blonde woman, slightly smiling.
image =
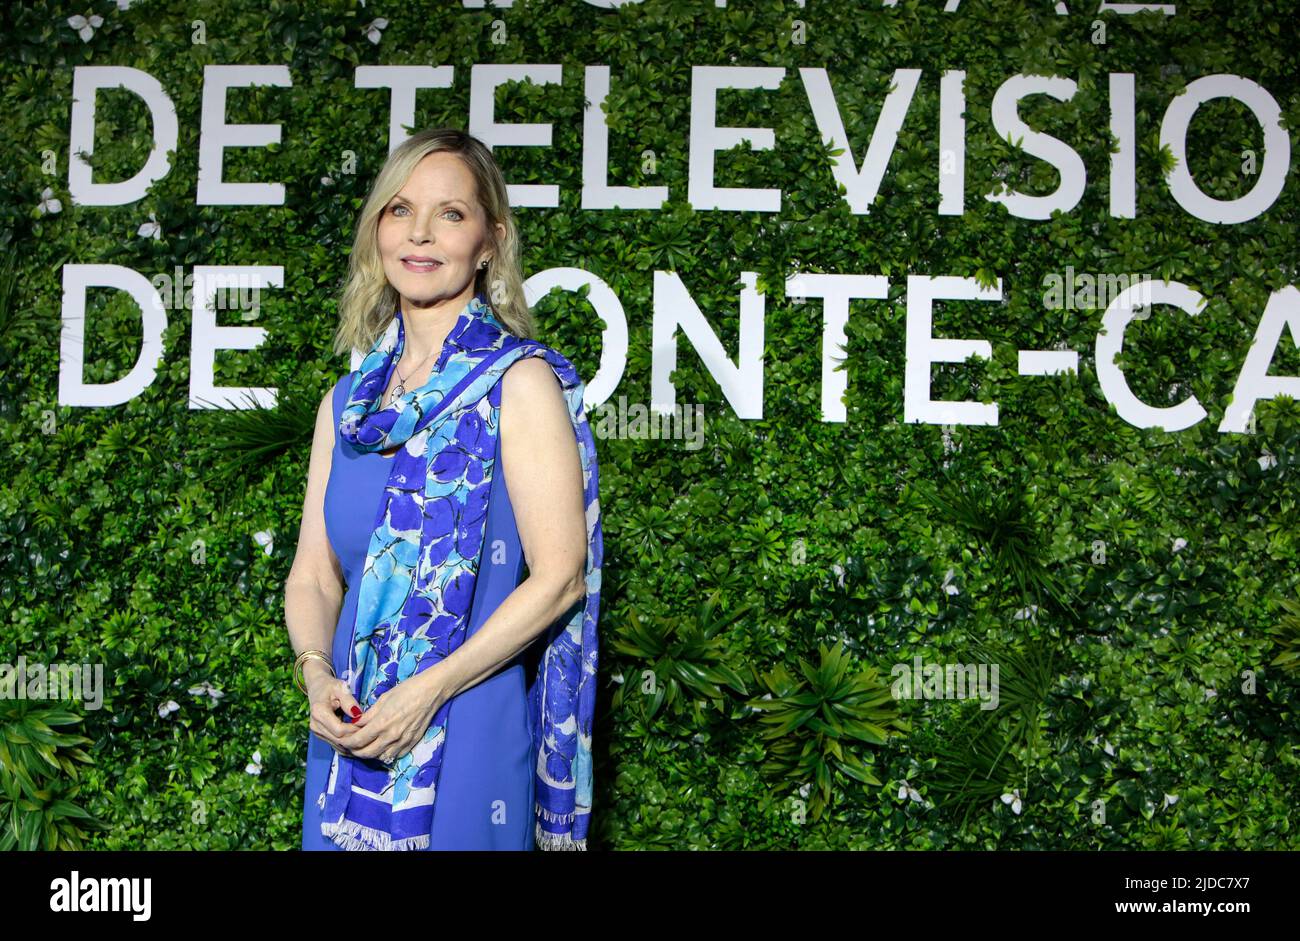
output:
[[[504, 235], [504, 226], [498, 226]], [[384, 207], [378, 226], [384, 274], [402, 309], [450, 303], [459, 312], [474, 292], [478, 264], [491, 256], [474, 178], [452, 153], [430, 153]], [[433, 264], [421, 264], [428, 259]]]

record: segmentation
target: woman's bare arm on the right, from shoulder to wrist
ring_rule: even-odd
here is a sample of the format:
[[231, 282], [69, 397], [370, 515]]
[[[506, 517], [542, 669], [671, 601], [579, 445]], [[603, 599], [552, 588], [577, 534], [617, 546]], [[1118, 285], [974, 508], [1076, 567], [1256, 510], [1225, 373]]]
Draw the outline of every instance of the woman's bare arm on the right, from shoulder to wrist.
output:
[[425, 671], [447, 698], [500, 669], [586, 593], [582, 464], [559, 380], [545, 360], [528, 356], [502, 383], [500, 455], [528, 577]]

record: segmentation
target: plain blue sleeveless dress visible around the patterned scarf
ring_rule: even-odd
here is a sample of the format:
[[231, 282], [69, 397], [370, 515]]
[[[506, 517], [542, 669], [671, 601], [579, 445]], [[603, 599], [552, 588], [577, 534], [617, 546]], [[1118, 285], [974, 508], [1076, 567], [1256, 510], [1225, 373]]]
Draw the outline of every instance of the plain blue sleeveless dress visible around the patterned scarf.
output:
[[[352, 373], [348, 373], [334, 386], [334, 451], [325, 490], [325, 529], [347, 582], [332, 651], [338, 676], [347, 669], [356, 593], [390, 467], [389, 458], [373, 451], [359, 452], [338, 435], [351, 385]], [[489, 393], [489, 400], [500, 406], [500, 382]], [[478, 630], [515, 590], [524, 569], [524, 551], [502, 470], [499, 434], [497, 443], [488, 529], [467, 637]], [[533, 849], [533, 762], [537, 751], [525, 694], [525, 652], [521, 651], [497, 673], [451, 699], [429, 834], [430, 850]], [[317, 805], [325, 792], [334, 749], [315, 732], [308, 730], [307, 734], [303, 849], [342, 850], [321, 836], [322, 814]]]

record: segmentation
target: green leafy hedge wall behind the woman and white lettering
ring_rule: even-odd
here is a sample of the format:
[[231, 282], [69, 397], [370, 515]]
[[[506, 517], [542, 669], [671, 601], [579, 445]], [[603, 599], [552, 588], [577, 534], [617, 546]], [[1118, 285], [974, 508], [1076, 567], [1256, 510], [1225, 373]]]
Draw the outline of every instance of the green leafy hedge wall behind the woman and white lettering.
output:
[[[315, 404], [348, 369], [329, 341], [355, 213], [387, 148], [387, 94], [354, 88], [354, 70], [451, 64], [450, 90], [420, 94], [417, 126], [468, 127], [476, 62], [564, 65], [563, 84], [511, 84], [497, 100], [499, 121], [552, 123], [552, 146], [498, 157], [512, 183], [560, 188], [559, 208], [516, 211], [525, 274], [584, 268], [627, 311], [614, 400], [650, 396], [655, 272], [688, 285], [733, 359], [741, 273], [759, 272], [767, 295], [762, 420], [737, 419], [679, 337], [672, 378], [680, 403], [703, 407], [705, 447], [598, 442], [593, 846], [1300, 845], [1290, 820], [1300, 798], [1300, 412], [1279, 396], [1257, 406], [1252, 433], [1217, 432], [1269, 295], [1295, 281], [1297, 181], [1290, 174], [1254, 220], [1202, 222], [1170, 196], [1158, 144], [1173, 96], [1231, 73], [1279, 103], [1295, 149], [1300, 17], [1292, 3], [1179, 1], [1174, 16], [1067, 6], [6, 5], [0, 659], [101, 663], [105, 698], [100, 710], [0, 699], [0, 845], [299, 845], [307, 708], [290, 680], [283, 578]], [[84, 42], [66, 19], [90, 12], [104, 22]], [[378, 44], [364, 34], [376, 17], [389, 19]], [[195, 19], [205, 44], [192, 42]], [[226, 151], [224, 174], [283, 182], [285, 205], [196, 205], [203, 68], [235, 62], [292, 74], [291, 88], [233, 92], [226, 114], [282, 126], [278, 146]], [[581, 209], [589, 64], [611, 69], [610, 182], [667, 186], [658, 211]], [[780, 187], [777, 214], [686, 200], [692, 65], [728, 64], [786, 69], [779, 91], [719, 95], [720, 125], [771, 127], [776, 144], [719, 153], [715, 183]], [[72, 82], [83, 65], [148, 71], [176, 103], [173, 169], [135, 204], [68, 196]], [[923, 70], [868, 214], [840, 198], [800, 68], [829, 70], [858, 162], [894, 69]], [[945, 69], [967, 73], [961, 217], [936, 211]], [[1136, 77], [1134, 218], [1108, 211], [1114, 71]], [[1079, 83], [1069, 103], [1020, 105], [1088, 168], [1080, 204], [1050, 220], [1014, 218], [983, 198], [1008, 178], [1035, 194], [1057, 185], [1050, 166], [992, 130], [993, 92], [1017, 73]], [[1204, 105], [1188, 134], [1191, 169], [1219, 199], [1251, 190], [1243, 152], [1261, 147], [1260, 125], [1225, 99]], [[134, 174], [148, 149], [143, 105], [101, 92], [96, 181]], [[344, 149], [358, 173], [324, 186]], [[39, 211], [46, 187], [61, 212]], [[150, 213], [160, 239], [138, 235]], [[144, 394], [60, 407], [61, 266], [84, 263], [147, 276], [282, 264], [283, 289], [264, 292], [256, 321], [265, 343], [218, 354], [216, 376], [277, 387], [278, 407], [187, 408], [186, 311], [170, 312]], [[1164, 406], [1195, 393], [1206, 419], [1165, 433], [1115, 413], [1091, 354], [1101, 309], [1041, 302], [1044, 279], [1066, 265], [1149, 273], [1209, 299], [1195, 318], [1162, 307], [1132, 324], [1121, 357], [1139, 398]], [[888, 299], [852, 304], [842, 424], [820, 420], [820, 303], [784, 296], [800, 270], [889, 277]], [[997, 402], [996, 426], [945, 434], [904, 421], [909, 274], [1002, 279], [1002, 303], [940, 304], [933, 326], [992, 343], [992, 360], [935, 367], [931, 394]], [[541, 338], [590, 377], [601, 333], [585, 296], [552, 292], [536, 313]], [[1300, 376], [1297, 338], [1292, 320], [1270, 374]], [[125, 295], [92, 291], [86, 381], [122, 376], [139, 343]], [[1018, 348], [1058, 343], [1080, 351], [1078, 374], [1018, 374]], [[257, 533], [270, 534], [268, 547]], [[997, 663], [1000, 707], [896, 699], [892, 667], [915, 656]]]

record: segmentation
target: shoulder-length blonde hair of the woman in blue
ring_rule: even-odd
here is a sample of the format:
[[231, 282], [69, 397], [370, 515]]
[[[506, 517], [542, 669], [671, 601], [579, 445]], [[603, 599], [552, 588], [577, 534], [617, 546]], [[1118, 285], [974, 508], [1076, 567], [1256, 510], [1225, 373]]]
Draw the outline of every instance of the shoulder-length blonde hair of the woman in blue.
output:
[[[389, 155], [361, 205], [347, 263], [347, 281], [338, 302], [334, 352], [361, 354], [393, 322], [400, 298], [384, 276], [378, 225], [384, 207], [406, 186], [416, 165], [430, 153], [455, 153], [474, 178], [474, 198], [488, 218], [493, 247], [488, 268], [474, 270], [474, 292], [481, 292], [502, 325], [516, 337], [533, 338], [533, 315], [524, 299], [524, 272], [519, 261], [519, 230], [510, 211], [506, 178], [491, 151], [478, 138], [455, 127], [433, 127], [412, 135]], [[498, 239], [497, 224], [506, 227]]]

